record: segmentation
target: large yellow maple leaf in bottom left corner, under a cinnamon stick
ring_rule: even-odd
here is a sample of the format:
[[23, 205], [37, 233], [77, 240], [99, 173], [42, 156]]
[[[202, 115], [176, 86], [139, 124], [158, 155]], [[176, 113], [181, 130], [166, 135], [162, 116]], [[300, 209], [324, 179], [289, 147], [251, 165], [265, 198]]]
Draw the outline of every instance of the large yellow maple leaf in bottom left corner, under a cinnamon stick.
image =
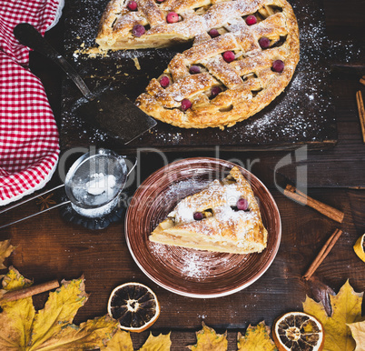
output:
[[[14, 267], [3, 286], [14, 290], [29, 285]], [[87, 300], [84, 278], [63, 281], [49, 294], [42, 310], [35, 311], [32, 297], [1, 302], [0, 350], [84, 350], [103, 347], [118, 330], [118, 322], [102, 316], [75, 326], [75, 314]]]

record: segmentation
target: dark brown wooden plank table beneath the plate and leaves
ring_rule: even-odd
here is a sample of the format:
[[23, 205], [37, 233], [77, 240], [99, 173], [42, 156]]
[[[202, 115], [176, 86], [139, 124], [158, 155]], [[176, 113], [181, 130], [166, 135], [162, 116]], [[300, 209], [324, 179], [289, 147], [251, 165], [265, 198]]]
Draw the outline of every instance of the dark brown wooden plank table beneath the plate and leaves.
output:
[[[343, 1], [339, 0], [321, 2], [330, 40], [356, 52], [364, 45], [361, 37], [364, 21], [360, 14], [365, 13], [365, 2], [349, 0], [346, 3], [348, 8], [343, 8]], [[63, 33], [61, 20], [46, 34], [61, 52]], [[218, 298], [194, 299], [174, 295], [155, 285], [136, 266], [125, 243], [123, 220], [102, 231], [93, 231], [66, 222], [57, 209], [0, 229], [0, 240], [10, 239], [16, 246], [6, 261], [7, 265], [15, 266], [24, 276], [34, 279], [35, 284], [84, 275], [86, 291], [91, 296], [79, 310], [75, 323], [104, 315], [108, 297], [115, 286], [128, 281], [150, 286], [159, 297], [161, 316], [148, 331], [133, 335], [135, 348], [143, 345], [150, 331], [156, 335], [172, 330], [172, 350], [182, 350], [195, 343], [195, 332], [203, 321], [218, 332], [228, 329], [228, 349], [236, 350], [237, 332], [243, 332], [249, 324], [256, 325], [265, 320], [271, 326], [282, 313], [302, 310], [306, 294], [313, 296], [313, 291], [311, 284], [301, 276], [336, 227], [341, 228], [343, 234], [314, 276], [336, 292], [347, 279], [356, 291], [365, 291], [365, 266], [352, 249], [357, 238], [365, 233], [365, 145], [355, 100], [357, 90], [365, 94], [365, 86], [359, 83], [360, 76], [365, 74], [363, 57], [362, 62], [350, 57], [331, 67], [331, 105], [335, 111], [338, 143], [330, 149], [306, 150], [305, 146], [298, 145], [292, 151], [223, 152], [217, 148], [204, 152], [173, 152], [163, 157], [156, 150], [139, 154], [140, 181], [176, 159], [212, 156], [244, 165], [270, 189], [281, 212], [281, 246], [268, 271], [251, 286]], [[31, 55], [31, 69], [41, 77], [60, 123], [64, 75], [55, 65], [36, 54]], [[291, 155], [291, 164], [279, 167], [287, 155]], [[297, 171], [300, 176], [306, 175], [306, 179], [298, 179]], [[297, 181], [302, 185], [307, 183], [311, 197], [345, 213], [343, 223], [337, 224], [284, 196], [280, 186], [285, 180], [293, 184]], [[56, 184], [59, 180], [54, 176], [47, 187]], [[138, 181], [128, 188], [128, 192], [133, 194], [136, 186]], [[0, 226], [36, 211], [39, 206], [29, 203], [22, 210], [2, 215]], [[43, 306], [46, 297], [46, 293], [36, 296], [35, 305]]]

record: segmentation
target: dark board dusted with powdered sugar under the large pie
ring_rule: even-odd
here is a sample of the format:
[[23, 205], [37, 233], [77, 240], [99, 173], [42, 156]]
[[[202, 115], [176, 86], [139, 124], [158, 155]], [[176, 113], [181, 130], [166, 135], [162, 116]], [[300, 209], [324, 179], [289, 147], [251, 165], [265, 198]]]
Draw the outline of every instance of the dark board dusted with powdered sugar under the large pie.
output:
[[[118, 51], [94, 58], [75, 54], [82, 47], [94, 46], [99, 19], [107, 3], [108, 0], [66, 2], [65, 55], [91, 88], [104, 84], [120, 86], [134, 99], [143, 93], [151, 78], [161, 75], [173, 55], [188, 46]], [[295, 148], [298, 144], [312, 148], [335, 145], [337, 129], [330, 94], [330, 65], [336, 58], [346, 59], [350, 54], [346, 47], [333, 45], [326, 36], [324, 15], [318, 2], [293, 0], [291, 5], [300, 27], [301, 61], [291, 84], [270, 105], [248, 120], [224, 130], [182, 129], [159, 122], [151, 132], [128, 145], [128, 149], [155, 147], [163, 151], [193, 151], [218, 145], [222, 150], [250, 150]], [[138, 65], [140, 69], [137, 69]], [[65, 80], [62, 147], [120, 146], [69, 112], [74, 100], [80, 96], [74, 84]]]

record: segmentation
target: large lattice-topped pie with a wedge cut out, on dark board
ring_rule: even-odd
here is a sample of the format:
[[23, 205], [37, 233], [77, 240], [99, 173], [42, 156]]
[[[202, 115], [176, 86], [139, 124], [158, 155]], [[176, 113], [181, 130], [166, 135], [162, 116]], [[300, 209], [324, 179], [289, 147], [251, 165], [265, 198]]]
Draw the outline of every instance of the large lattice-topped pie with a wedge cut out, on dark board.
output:
[[[299, 30], [285, 0], [136, 3], [134, 12], [125, 1], [108, 5], [96, 39], [102, 48], [161, 47], [194, 39], [192, 48], [175, 55], [137, 98], [136, 105], [148, 115], [185, 128], [232, 126], [269, 105], [291, 81], [299, 61]], [[182, 20], [166, 23], [169, 11]], [[247, 25], [249, 15], [256, 24]], [[136, 24], [149, 26], [140, 37], [132, 34]], [[208, 34], [212, 28], [219, 36]], [[226, 52], [234, 54], [232, 62], [223, 58]], [[274, 69], [277, 62], [282, 70]], [[199, 73], [192, 73], [192, 66]], [[162, 78], [168, 78], [167, 86]]]

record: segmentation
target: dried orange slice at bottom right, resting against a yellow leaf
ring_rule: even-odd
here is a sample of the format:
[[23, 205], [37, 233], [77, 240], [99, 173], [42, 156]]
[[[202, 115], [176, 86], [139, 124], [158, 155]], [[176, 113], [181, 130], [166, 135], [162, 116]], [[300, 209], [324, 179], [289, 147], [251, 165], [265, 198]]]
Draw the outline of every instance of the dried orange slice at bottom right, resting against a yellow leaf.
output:
[[272, 326], [272, 338], [280, 351], [321, 351], [324, 345], [321, 322], [303, 312], [280, 316]]

